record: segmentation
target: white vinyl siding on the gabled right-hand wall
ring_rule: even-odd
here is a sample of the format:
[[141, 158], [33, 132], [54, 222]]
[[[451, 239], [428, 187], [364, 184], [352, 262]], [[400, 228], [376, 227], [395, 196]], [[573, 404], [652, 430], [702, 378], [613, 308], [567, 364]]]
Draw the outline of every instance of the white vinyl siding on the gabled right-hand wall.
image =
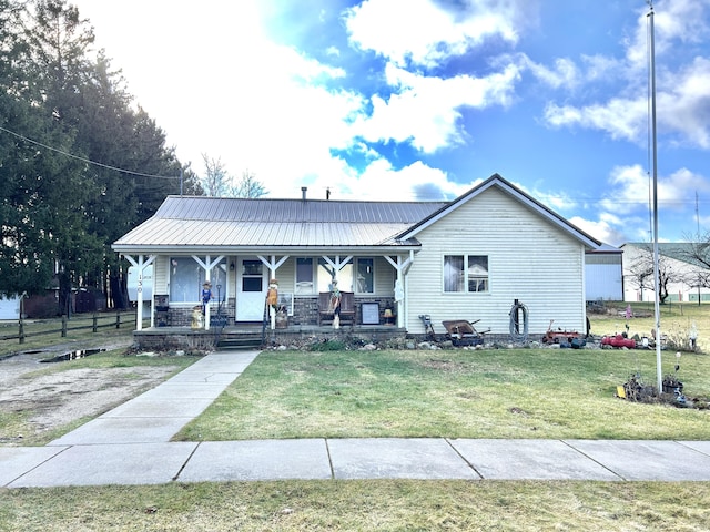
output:
[[[586, 330], [584, 246], [509, 195], [489, 188], [416, 235], [422, 250], [407, 276], [406, 327], [424, 332], [419, 315], [432, 316], [443, 332], [445, 319], [480, 319], [479, 326], [507, 334], [515, 299], [528, 308], [529, 331], [542, 334], [550, 319]], [[487, 293], [447, 294], [445, 255], [488, 257]]]

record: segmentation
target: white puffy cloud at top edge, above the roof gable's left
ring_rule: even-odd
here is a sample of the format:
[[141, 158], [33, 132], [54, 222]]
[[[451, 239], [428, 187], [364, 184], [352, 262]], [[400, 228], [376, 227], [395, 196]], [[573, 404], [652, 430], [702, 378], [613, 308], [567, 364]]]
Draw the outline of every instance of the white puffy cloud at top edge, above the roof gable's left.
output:
[[365, 0], [346, 11], [345, 24], [357, 48], [399, 66], [430, 68], [491, 37], [515, 44], [523, 9], [517, 2], [469, 1], [453, 12], [433, 0]]

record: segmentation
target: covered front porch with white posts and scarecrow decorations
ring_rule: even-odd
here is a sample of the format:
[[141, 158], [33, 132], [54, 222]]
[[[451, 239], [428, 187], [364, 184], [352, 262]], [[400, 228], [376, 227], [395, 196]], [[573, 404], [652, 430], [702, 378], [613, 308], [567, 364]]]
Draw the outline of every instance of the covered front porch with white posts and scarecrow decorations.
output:
[[[310, 330], [333, 323], [334, 282], [343, 326], [404, 328], [409, 255], [139, 255], [136, 330], [145, 314], [151, 328], [248, 328]], [[152, 287], [143, 278], [152, 268]], [[131, 277], [131, 276], [130, 276]], [[405, 279], [405, 282], [403, 282]], [[209, 295], [205, 297], [205, 286]], [[145, 298], [144, 298], [145, 297]], [[202, 299], [202, 300], [201, 300]], [[386, 330], [386, 329], [385, 329]]]

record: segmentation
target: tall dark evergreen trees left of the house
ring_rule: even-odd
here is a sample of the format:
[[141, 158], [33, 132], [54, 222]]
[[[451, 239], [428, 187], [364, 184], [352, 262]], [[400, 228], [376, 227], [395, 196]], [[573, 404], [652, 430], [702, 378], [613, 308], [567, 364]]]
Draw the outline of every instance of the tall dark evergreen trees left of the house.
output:
[[124, 308], [111, 244], [166, 195], [204, 194], [200, 177], [65, 0], [0, 0], [0, 294], [58, 287], [70, 314], [81, 286]]

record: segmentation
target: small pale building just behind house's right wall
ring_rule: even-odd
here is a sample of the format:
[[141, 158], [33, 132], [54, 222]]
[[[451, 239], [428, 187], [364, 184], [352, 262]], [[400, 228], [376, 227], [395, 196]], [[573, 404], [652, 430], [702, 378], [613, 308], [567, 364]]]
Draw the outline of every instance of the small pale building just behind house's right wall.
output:
[[602, 244], [587, 252], [585, 286], [588, 301], [623, 300], [623, 257], [621, 249]]

